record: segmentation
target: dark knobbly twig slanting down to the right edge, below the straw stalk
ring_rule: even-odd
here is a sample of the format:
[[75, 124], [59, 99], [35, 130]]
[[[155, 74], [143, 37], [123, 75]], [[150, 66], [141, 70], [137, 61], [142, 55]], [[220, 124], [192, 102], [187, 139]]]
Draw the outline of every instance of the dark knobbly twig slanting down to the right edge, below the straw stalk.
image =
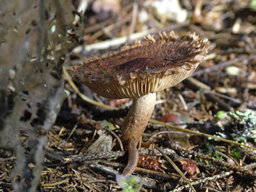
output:
[[241, 172], [244, 175], [250, 175], [250, 176], [256, 177], [256, 173], [253, 173], [250, 170], [243, 169], [240, 166], [231, 165], [230, 163], [218, 160], [217, 158], [210, 157], [209, 155], [204, 155], [204, 154], [201, 154], [201, 153], [198, 153], [198, 152], [186, 149], [185, 147], [182, 147], [182, 146], [180, 146], [178, 144], [175, 144], [175, 143], [171, 142], [169, 139], [166, 139], [165, 143], [171, 149], [177, 150], [179, 152], [186, 152], [188, 155], [193, 155], [194, 157], [198, 157], [198, 158], [206, 159], [206, 160], [211, 160], [214, 163], [218, 163], [221, 166], [226, 166], [226, 167], [228, 167], [230, 169], [233, 169], [236, 172]]

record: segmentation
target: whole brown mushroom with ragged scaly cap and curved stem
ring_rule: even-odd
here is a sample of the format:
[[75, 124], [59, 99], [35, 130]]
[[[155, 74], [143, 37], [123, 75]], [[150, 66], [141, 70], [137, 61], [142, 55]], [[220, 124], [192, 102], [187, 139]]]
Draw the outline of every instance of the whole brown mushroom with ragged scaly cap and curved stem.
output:
[[206, 57], [210, 43], [190, 32], [179, 37], [173, 31], [159, 33], [156, 40], [124, 46], [105, 58], [92, 58], [68, 71], [73, 80], [109, 99], [133, 98], [121, 127], [122, 142], [128, 145], [128, 165], [123, 175], [137, 166], [137, 144], [153, 112], [156, 92], [175, 86], [195, 71]]

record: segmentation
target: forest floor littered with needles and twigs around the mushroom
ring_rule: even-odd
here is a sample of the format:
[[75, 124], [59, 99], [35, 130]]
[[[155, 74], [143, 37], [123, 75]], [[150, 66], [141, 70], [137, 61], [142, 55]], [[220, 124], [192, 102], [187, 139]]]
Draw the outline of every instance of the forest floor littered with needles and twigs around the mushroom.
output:
[[[209, 53], [191, 77], [157, 93], [153, 120], [143, 135], [180, 167], [198, 192], [256, 192], [255, 1], [180, 0], [182, 8], [175, 7], [180, 10], [173, 18], [163, 11], [163, 7], [171, 9], [168, 4], [153, 6], [160, 1], [111, 0], [93, 5], [97, 2], [89, 3], [83, 41], [70, 55], [69, 65], [81, 64], [90, 54], [104, 57], [149, 33], [191, 31], [209, 39]], [[122, 172], [128, 154], [113, 146], [131, 99], [108, 100], [82, 84], [76, 86], [81, 94], [113, 110], [85, 102], [65, 77], [68, 96], [48, 134], [38, 190], [121, 191], [116, 174]], [[21, 132], [21, 143], [27, 137]], [[95, 148], [98, 152], [91, 153]], [[139, 153], [133, 175], [141, 178], [141, 191], [191, 190], [145, 138]], [[6, 153], [0, 162], [5, 170], [0, 183], [4, 181], [6, 191], [12, 190], [8, 178], [14, 159]]]

